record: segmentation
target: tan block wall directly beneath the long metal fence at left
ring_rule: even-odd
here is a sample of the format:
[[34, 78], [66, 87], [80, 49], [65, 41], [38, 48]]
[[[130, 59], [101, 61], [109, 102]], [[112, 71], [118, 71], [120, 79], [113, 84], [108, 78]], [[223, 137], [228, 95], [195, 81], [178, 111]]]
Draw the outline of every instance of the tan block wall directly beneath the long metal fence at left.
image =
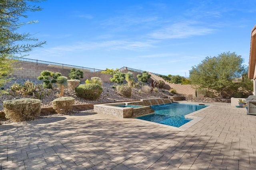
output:
[[[40, 76], [40, 73], [43, 70], [49, 70], [52, 72], [60, 72], [62, 76], [67, 76], [70, 73], [70, 69], [65, 68], [55, 68], [50, 66], [41, 66], [41, 65], [35, 65], [35, 64], [26, 64], [26, 63], [15, 63], [17, 69], [14, 71], [14, 73], [11, 75], [11, 77], [16, 78], [37, 78]], [[112, 77], [110, 74], [101, 74], [98, 72], [86, 72], [84, 71], [84, 78], [81, 78], [81, 82], [84, 82], [86, 79], [90, 79], [92, 77], [99, 77], [103, 82], [110, 83], [109, 78]], [[69, 78], [69, 77], [68, 77]]]

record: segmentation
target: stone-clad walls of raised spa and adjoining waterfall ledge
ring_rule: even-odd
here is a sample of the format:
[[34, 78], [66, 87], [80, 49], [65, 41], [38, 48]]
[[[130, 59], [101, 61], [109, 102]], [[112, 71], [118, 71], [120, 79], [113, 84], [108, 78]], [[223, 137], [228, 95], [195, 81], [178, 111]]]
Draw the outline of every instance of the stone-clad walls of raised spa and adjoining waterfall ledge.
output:
[[[141, 115], [147, 115], [150, 113], [154, 113], [154, 110], [149, 106], [158, 105], [158, 104], [167, 104], [172, 103], [173, 99], [141, 99], [138, 102], [122, 102], [122, 103], [113, 103], [113, 104], [98, 104], [94, 105], [94, 112], [103, 113], [106, 115], [112, 115], [120, 118], [132, 118], [138, 117]], [[142, 107], [132, 108], [132, 107], [116, 107], [120, 105], [139, 105]]]

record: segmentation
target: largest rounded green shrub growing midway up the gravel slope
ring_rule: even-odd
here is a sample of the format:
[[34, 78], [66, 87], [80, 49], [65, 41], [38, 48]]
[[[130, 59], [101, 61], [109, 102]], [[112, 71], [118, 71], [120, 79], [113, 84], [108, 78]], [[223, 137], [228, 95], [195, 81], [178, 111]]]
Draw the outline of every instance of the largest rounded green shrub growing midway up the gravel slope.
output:
[[75, 91], [78, 97], [96, 100], [102, 94], [103, 89], [98, 84], [80, 84], [75, 88]]

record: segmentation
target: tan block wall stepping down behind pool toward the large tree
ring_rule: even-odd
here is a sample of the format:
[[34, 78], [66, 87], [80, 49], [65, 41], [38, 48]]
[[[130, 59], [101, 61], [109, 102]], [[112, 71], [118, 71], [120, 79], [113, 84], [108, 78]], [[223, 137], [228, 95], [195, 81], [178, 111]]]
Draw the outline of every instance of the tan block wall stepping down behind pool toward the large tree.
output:
[[177, 93], [179, 94], [184, 94], [184, 95], [188, 95], [188, 94], [192, 94], [195, 95], [196, 90], [194, 88], [192, 88], [192, 86], [190, 84], [174, 84], [174, 83], [169, 83], [166, 82], [162, 77], [159, 77], [155, 74], [150, 73], [151, 75], [151, 79], [152, 80], [162, 80], [164, 81], [164, 89], [170, 90], [171, 88], [174, 88]]

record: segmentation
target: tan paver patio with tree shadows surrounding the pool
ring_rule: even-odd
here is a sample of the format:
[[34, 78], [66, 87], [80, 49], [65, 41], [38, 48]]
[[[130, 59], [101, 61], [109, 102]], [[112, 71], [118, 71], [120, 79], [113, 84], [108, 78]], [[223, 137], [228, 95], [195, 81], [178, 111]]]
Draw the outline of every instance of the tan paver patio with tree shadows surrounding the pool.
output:
[[94, 112], [0, 125], [1, 170], [256, 169], [256, 116], [211, 104], [185, 131]]

